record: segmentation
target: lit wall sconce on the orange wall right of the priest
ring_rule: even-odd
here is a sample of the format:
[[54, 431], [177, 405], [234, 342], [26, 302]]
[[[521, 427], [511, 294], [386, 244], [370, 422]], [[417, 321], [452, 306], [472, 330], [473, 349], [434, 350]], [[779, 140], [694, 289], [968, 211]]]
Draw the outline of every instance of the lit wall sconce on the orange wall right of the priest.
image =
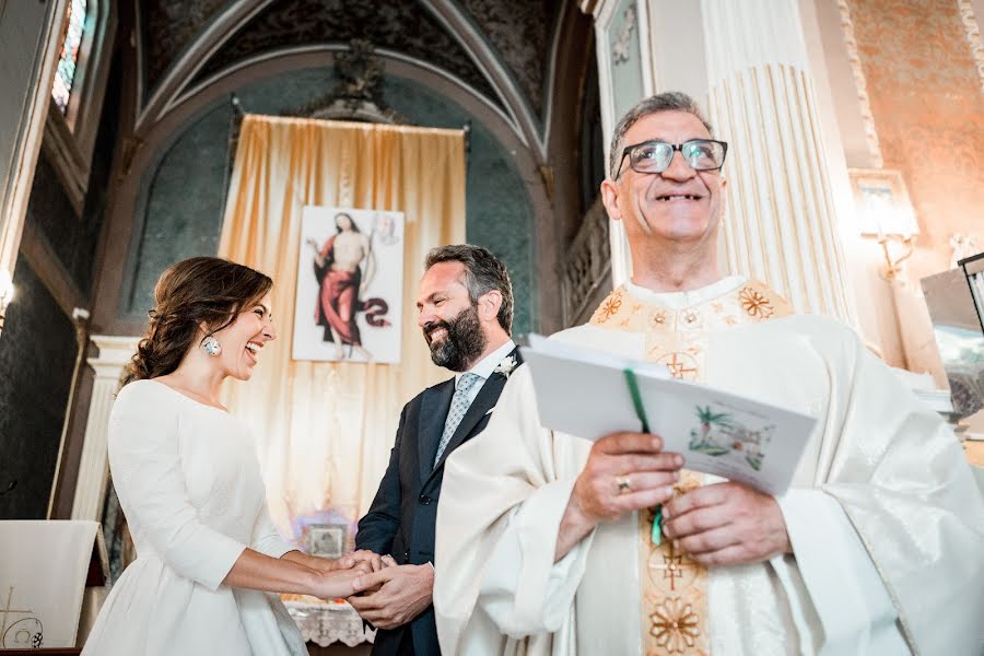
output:
[[863, 236], [875, 236], [885, 256], [883, 279], [892, 281], [912, 257], [919, 224], [909, 201], [902, 172], [850, 168], [855, 209]]

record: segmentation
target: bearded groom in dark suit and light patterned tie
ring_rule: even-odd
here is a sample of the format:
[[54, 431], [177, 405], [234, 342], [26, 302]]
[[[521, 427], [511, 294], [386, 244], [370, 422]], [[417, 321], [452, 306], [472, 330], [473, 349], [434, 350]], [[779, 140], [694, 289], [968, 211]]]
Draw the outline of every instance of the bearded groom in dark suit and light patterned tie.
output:
[[513, 288], [506, 268], [480, 246], [435, 248], [417, 300], [418, 325], [434, 364], [455, 377], [403, 407], [379, 491], [359, 522], [355, 548], [389, 566], [362, 576], [349, 598], [378, 629], [374, 656], [437, 656], [434, 526], [444, 462], [482, 432], [519, 351], [509, 338]]

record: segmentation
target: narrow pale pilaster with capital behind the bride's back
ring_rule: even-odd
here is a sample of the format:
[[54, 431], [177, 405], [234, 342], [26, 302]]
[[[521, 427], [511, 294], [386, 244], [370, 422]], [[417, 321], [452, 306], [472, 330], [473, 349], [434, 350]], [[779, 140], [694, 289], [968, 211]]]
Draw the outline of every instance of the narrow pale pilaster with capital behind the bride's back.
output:
[[95, 370], [89, 418], [85, 420], [85, 442], [79, 462], [79, 479], [72, 501], [72, 519], [103, 518], [103, 502], [108, 480], [108, 453], [106, 449], [109, 427], [109, 410], [119, 391], [124, 367], [137, 352], [139, 337], [110, 337], [96, 335], [92, 341], [98, 347], [98, 358], [90, 358]]

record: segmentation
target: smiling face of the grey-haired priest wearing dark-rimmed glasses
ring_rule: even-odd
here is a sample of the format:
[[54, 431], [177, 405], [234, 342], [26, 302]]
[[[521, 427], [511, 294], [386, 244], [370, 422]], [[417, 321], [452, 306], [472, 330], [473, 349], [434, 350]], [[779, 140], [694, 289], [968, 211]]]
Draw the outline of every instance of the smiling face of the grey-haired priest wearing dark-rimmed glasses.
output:
[[[687, 112], [658, 112], [639, 119], [625, 132], [622, 147], [644, 141], [679, 144], [711, 139], [704, 124]], [[680, 152], [663, 173], [639, 173], [622, 161], [618, 180], [606, 180], [606, 208], [622, 220], [629, 241], [658, 239], [710, 243], [717, 237], [725, 180], [719, 171], [694, 171]]]

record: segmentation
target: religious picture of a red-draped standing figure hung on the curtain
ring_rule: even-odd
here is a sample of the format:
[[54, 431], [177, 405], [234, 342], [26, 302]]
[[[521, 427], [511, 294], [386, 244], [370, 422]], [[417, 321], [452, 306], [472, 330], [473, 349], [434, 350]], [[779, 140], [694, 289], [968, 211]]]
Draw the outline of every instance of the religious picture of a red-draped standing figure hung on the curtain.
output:
[[293, 359], [399, 362], [402, 284], [402, 213], [305, 207]]

